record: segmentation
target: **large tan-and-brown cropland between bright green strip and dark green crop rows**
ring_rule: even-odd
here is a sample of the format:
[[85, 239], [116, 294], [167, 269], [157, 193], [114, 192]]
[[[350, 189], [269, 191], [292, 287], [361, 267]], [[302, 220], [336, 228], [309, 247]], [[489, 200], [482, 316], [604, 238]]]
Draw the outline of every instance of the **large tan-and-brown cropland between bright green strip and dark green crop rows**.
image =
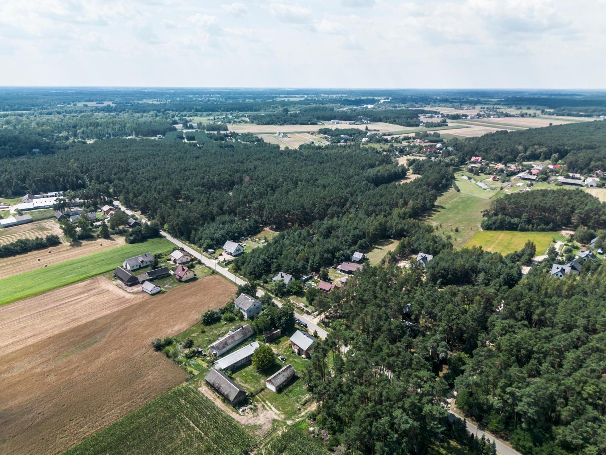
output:
[[150, 340], [184, 331], [235, 289], [211, 275], [129, 295], [99, 277], [2, 308], [2, 343], [15, 341], [0, 355], [0, 453], [59, 453], [181, 383]]

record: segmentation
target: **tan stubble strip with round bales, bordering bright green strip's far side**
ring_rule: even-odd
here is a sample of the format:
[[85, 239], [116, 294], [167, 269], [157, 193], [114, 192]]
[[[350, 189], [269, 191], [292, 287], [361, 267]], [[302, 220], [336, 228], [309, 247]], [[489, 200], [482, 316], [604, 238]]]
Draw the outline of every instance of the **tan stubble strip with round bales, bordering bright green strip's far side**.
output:
[[[30, 270], [39, 269], [45, 265], [58, 264], [60, 262], [87, 256], [115, 246], [124, 244], [124, 237], [112, 239], [81, 240], [76, 244], [61, 243], [57, 246], [41, 250], [31, 251], [0, 259], [0, 280], [2, 278], [19, 275]], [[50, 251], [50, 253], [49, 253]], [[39, 260], [38, 260], [39, 259]]]

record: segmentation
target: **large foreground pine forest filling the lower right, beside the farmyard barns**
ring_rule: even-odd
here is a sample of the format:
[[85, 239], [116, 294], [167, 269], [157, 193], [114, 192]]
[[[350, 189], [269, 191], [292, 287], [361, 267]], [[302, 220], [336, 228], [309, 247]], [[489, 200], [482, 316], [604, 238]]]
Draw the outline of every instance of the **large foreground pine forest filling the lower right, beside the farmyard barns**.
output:
[[502, 268], [487, 258], [436, 267], [463, 265], [473, 284], [438, 289], [439, 277], [390, 265], [333, 292], [333, 331], [306, 377], [318, 424], [361, 453], [424, 453], [447, 427], [454, 386], [460, 409], [524, 454], [604, 453], [606, 269], [503, 283], [481, 278]]

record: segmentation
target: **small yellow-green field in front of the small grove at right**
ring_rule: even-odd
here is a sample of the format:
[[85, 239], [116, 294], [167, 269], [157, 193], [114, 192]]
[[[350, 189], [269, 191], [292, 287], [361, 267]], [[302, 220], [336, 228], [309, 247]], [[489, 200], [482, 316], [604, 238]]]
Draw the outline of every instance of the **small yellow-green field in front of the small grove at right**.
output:
[[513, 253], [524, 247], [527, 240], [536, 245], [538, 255], [545, 254], [554, 238], [561, 237], [559, 232], [519, 232], [519, 231], [481, 231], [475, 234], [465, 246], [482, 246], [485, 251], [501, 254]]

